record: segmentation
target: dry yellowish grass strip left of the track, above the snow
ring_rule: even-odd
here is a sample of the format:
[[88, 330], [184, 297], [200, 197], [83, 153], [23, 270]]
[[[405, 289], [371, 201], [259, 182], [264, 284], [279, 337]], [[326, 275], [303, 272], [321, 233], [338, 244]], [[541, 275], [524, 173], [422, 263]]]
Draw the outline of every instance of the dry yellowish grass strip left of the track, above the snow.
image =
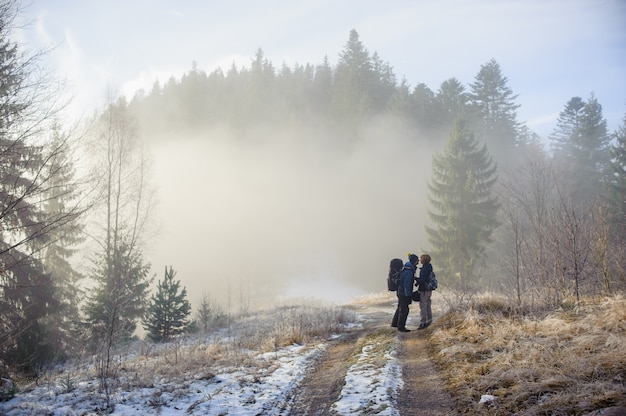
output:
[[264, 374], [275, 363], [258, 359], [259, 354], [293, 344], [314, 344], [354, 319], [353, 311], [333, 306], [287, 305], [257, 311], [214, 334], [195, 334], [164, 344], [137, 343], [131, 347], [136, 353], [120, 355], [115, 378], [123, 389], [132, 389], [163, 379], [188, 385], [212, 378], [215, 368], [249, 367]]

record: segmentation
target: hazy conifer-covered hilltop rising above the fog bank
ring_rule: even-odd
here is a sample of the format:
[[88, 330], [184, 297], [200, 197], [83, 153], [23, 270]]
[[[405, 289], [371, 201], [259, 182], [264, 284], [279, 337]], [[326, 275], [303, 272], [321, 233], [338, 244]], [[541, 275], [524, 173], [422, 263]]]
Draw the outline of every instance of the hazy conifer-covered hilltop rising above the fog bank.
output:
[[492, 59], [477, 68], [469, 86], [454, 77], [436, 89], [411, 86], [398, 80], [393, 65], [371, 53], [353, 30], [336, 66], [327, 57], [317, 64], [279, 66], [259, 49], [249, 67], [233, 64], [207, 74], [194, 63], [180, 79], [172, 77], [164, 85], [156, 81], [150, 91], [139, 91], [129, 108], [150, 140], [180, 140], [181, 132], [215, 126], [239, 132], [271, 126], [353, 141], [382, 118], [415, 140], [442, 141], [455, 118], [465, 114], [475, 130], [489, 132], [483, 135], [487, 142], [497, 136], [515, 145], [532, 134], [517, 121], [517, 96], [507, 83]]

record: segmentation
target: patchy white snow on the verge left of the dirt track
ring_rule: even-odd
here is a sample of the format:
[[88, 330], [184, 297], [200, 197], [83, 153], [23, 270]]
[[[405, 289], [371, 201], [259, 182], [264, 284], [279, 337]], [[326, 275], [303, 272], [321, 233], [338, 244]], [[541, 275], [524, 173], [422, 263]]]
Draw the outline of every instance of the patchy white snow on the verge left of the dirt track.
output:
[[[307, 371], [308, 364], [325, 348], [293, 345], [257, 356], [271, 360], [275, 369], [268, 375], [258, 369], [242, 367], [223, 372], [210, 380], [168, 383], [163, 380], [150, 388], [120, 391], [111, 397], [115, 410], [111, 415], [279, 415], [289, 402], [293, 389]], [[77, 383], [70, 393], [63, 393], [62, 380], [20, 393], [0, 403], [0, 414], [21, 415], [96, 415], [104, 408], [104, 398], [97, 393], [97, 381]], [[121, 389], [120, 389], [121, 390]]]

